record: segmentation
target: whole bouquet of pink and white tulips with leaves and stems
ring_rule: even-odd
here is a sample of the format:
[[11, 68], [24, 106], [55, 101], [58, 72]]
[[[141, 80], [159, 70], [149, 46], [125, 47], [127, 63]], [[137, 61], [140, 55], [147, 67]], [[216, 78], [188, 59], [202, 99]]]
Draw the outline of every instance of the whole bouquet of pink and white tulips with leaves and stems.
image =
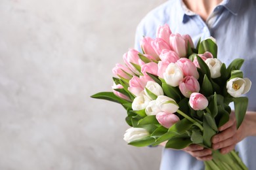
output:
[[[158, 27], [156, 39], [143, 37], [142, 53], [130, 49], [125, 65], [113, 69], [113, 92], [92, 95], [120, 103], [127, 111], [124, 140], [133, 146], [182, 149], [190, 144], [211, 148], [211, 137], [229, 120], [234, 102], [237, 128], [247, 110], [251, 81], [240, 67], [243, 59], [228, 66], [217, 59], [212, 37], [197, 46], [189, 35], [171, 33], [168, 25]], [[247, 169], [233, 150], [213, 150], [205, 169]]]

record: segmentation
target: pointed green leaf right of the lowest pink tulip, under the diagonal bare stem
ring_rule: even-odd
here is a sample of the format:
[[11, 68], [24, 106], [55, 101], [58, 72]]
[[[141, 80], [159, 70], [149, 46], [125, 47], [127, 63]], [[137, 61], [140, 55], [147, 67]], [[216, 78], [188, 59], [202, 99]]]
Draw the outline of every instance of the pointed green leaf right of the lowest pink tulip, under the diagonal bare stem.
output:
[[185, 133], [190, 127], [192, 127], [194, 124], [187, 120], [186, 118], [183, 118], [179, 122], [175, 123], [173, 126], [169, 128], [168, 131], [173, 131], [177, 134], [183, 134]]

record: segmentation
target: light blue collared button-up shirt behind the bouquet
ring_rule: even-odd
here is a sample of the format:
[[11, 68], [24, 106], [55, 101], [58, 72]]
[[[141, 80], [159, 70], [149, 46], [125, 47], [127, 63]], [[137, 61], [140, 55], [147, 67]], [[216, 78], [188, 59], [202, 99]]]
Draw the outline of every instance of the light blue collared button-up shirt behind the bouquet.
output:
[[[198, 39], [214, 37], [218, 44], [218, 58], [228, 65], [235, 58], [244, 58], [242, 71], [251, 82], [248, 110], [256, 111], [256, 1], [223, 0], [215, 7], [206, 22], [188, 10], [182, 1], [169, 0], [149, 12], [137, 27], [135, 48], [140, 50], [142, 36], [156, 37], [159, 25], [168, 24], [173, 33], [189, 34], [196, 44]], [[236, 150], [249, 169], [256, 169], [256, 137], [247, 137]], [[204, 169], [181, 150], [164, 149], [160, 169]]]

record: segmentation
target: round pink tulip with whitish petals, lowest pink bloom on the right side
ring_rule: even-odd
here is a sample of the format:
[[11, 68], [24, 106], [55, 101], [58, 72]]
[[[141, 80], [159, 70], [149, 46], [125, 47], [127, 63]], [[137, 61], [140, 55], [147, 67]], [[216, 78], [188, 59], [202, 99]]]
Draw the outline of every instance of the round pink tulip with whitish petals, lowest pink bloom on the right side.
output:
[[202, 93], [192, 93], [190, 95], [189, 105], [194, 110], [203, 110], [208, 106], [208, 100]]

